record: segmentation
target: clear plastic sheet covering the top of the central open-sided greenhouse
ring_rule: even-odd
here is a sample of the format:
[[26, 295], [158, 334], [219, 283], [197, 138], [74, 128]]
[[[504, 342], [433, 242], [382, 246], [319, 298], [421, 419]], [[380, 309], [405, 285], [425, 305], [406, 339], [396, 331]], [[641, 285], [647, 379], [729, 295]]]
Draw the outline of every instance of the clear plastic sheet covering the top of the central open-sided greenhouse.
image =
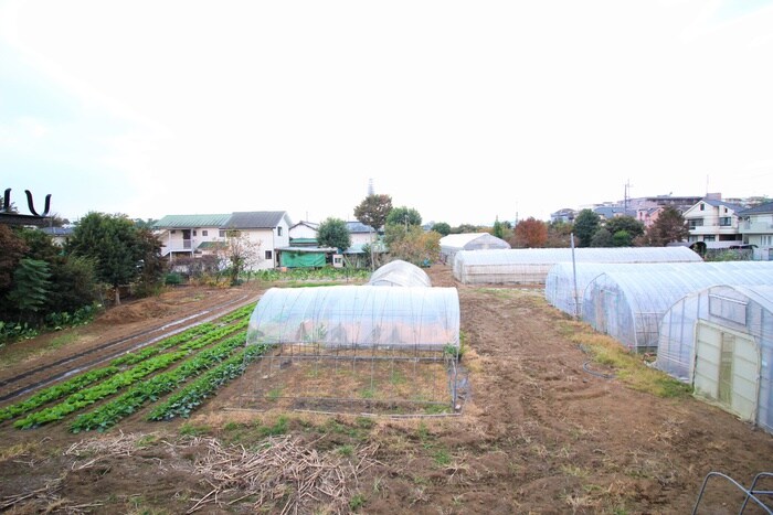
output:
[[254, 343], [458, 348], [459, 298], [456, 288], [272, 288], [250, 319]]

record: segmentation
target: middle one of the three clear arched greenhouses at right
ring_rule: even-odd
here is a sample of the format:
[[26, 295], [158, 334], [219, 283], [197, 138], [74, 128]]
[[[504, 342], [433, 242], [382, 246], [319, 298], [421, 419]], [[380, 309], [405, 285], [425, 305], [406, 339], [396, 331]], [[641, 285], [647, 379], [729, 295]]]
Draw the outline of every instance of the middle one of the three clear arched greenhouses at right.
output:
[[585, 288], [582, 320], [628, 348], [655, 348], [666, 311], [682, 297], [716, 285], [773, 285], [773, 262], [758, 261], [746, 269], [605, 272]]

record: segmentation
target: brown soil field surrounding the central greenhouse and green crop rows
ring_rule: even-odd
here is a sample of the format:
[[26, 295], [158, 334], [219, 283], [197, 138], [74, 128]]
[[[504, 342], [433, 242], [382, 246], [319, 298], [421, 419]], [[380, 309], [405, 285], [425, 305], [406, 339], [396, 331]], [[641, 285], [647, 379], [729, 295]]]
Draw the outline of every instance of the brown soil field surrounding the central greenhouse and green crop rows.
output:
[[[550, 307], [540, 289], [463, 286], [444, 266], [427, 272], [433, 286], [459, 291], [472, 395], [458, 416], [240, 409], [242, 394], [263, 379], [253, 361], [190, 418], [149, 421], [170, 395], [161, 393], [104, 432], [71, 432], [78, 415], [127, 395], [134, 386], [126, 386], [34, 429], [14, 426], [29, 414], [0, 422], [0, 511], [671, 514], [691, 513], [708, 472], [748, 486], [773, 471], [773, 436], [678, 391], [635, 389], [620, 371], [589, 364], [579, 342], [605, 337]], [[250, 305], [268, 286], [179, 288], [127, 302], [89, 326], [8, 345], [0, 348], [0, 397], [76, 366], [68, 356], [88, 364], [106, 354], [92, 368], [108, 366], [125, 348], [106, 343], [145, 332], [160, 337], [150, 331], [184, 325], [176, 321], [214, 319], [222, 329], [216, 316]], [[159, 350], [157, 356], [189, 354], [133, 385], [161, 384], [153, 377], [182, 368], [188, 355], [214, 355], [218, 345], [240, 352], [225, 343], [240, 336], [239, 323], [200, 347], [192, 335]], [[216, 366], [191, 372], [182, 385]], [[7, 398], [0, 410], [32, 395]], [[738, 513], [741, 497], [718, 485], [700, 513]]]

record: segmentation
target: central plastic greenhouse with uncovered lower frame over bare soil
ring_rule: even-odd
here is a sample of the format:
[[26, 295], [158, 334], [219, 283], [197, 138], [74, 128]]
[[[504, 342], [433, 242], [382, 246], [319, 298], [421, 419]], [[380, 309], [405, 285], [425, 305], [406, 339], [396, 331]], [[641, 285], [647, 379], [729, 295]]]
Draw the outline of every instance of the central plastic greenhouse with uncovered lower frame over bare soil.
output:
[[459, 300], [455, 288], [272, 288], [250, 319], [260, 362], [251, 401], [294, 409], [454, 411]]

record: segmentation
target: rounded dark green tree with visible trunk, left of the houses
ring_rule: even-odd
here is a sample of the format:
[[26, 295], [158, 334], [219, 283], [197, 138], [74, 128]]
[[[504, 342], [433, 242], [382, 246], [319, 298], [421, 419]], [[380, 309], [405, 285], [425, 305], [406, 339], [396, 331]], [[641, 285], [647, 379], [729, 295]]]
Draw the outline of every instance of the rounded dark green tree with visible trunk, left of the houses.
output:
[[92, 212], [75, 226], [67, 249], [94, 260], [97, 280], [114, 288], [119, 304], [118, 288], [141, 272], [145, 250], [139, 239], [137, 227], [125, 215]]

